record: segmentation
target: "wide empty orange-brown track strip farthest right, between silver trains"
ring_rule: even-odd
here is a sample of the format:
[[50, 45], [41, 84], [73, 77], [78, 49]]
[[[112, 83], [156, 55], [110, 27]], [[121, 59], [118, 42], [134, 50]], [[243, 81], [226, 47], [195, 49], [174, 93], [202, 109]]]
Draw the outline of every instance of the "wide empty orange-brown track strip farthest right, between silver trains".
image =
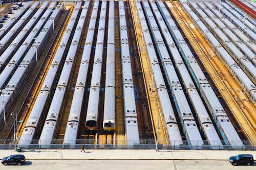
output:
[[[166, 4], [167, 6], [172, 8], [170, 3]], [[207, 77], [211, 80], [211, 83], [214, 84], [215, 87], [218, 87], [215, 89], [215, 92], [217, 92], [218, 97], [221, 100], [221, 103], [225, 103], [224, 108], [228, 110], [227, 113], [229, 114], [232, 123], [236, 124], [235, 128], [238, 130], [241, 139], [245, 140], [246, 137], [244, 133], [247, 132], [246, 130], [241, 129], [243, 128], [243, 126], [241, 125], [242, 123], [240, 123], [241, 120], [239, 117], [246, 113], [249, 115], [253, 115], [254, 108], [244, 102], [243, 99], [246, 98], [245, 94], [241, 98], [241, 92], [240, 90], [237, 90], [241, 88], [233, 80], [232, 76], [225, 68], [225, 66], [223, 64], [220, 64], [221, 61], [219, 60], [219, 58], [216, 57], [217, 55], [211, 49], [209, 44], [204, 40], [204, 38], [202, 38], [202, 36], [200, 37], [200, 32], [197, 29], [195, 29], [196, 27], [193, 25], [190, 19], [188, 19], [188, 16], [181, 9], [178, 2], [172, 2], [172, 5], [173, 7], [175, 7], [172, 8], [172, 12], [176, 18], [179, 18], [179, 25], [182, 28], [183, 34], [185, 34], [190, 39], [190, 41], [194, 40], [194, 43], [191, 43], [191, 45], [193, 46], [194, 50], [196, 50], [197, 53], [200, 54], [197, 57], [200, 56], [200, 64], [204, 68], [203, 70], [205, 70], [205, 72], [206, 70], [207, 72], [210, 72], [210, 74], [207, 73]], [[220, 98], [220, 96], [222, 96], [222, 98]], [[248, 134], [246, 134], [246, 136], [248, 136]]]

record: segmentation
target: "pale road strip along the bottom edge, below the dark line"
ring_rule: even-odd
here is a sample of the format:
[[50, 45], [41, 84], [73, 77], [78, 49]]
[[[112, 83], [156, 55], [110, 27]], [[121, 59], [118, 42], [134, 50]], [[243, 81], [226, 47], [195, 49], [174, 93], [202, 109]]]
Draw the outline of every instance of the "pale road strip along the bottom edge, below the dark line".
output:
[[253, 166], [232, 166], [228, 161], [214, 160], [27, 160], [25, 165], [0, 165], [0, 169], [255, 169]]

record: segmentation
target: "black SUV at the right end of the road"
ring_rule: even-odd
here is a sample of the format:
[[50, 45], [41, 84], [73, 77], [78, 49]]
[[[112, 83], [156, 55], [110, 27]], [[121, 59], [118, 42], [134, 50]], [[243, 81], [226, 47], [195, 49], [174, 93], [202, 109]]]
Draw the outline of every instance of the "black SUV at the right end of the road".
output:
[[240, 154], [237, 156], [230, 156], [229, 157], [229, 162], [236, 166], [236, 165], [253, 165], [254, 160], [253, 156], [250, 154]]

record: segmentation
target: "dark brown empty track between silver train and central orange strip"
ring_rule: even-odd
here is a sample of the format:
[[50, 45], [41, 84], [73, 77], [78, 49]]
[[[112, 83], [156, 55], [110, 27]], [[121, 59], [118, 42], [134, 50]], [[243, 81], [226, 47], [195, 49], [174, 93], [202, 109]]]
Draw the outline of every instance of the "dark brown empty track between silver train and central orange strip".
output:
[[[138, 102], [136, 103], [137, 108], [137, 116], [138, 121], [141, 123], [139, 124], [139, 132], [140, 132], [140, 139], [154, 139], [153, 137], [153, 130], [149, 115], [149, 108], [147, 105], [147, 99], [146, 99], [146, 91], [145, 91], [145, 83], [143, 81], [143, 75], [142, 75], [142, 68], [141, 68], [141, 61], [138, 54], [138, 45], [136, 41], [136, 34], [134, 31], [133, 26], [133, 17], [131, 12], [131, 6], [129, 2], [125, 2], [124, 5], [126, 6], [126, 24], [127, 24], [127, 33], [129, 37], [130, 47], [131, 47], [131, 61], [132, 61], [132, 68], [133, 72], [135, 72], [136, 75], [133, 74], [134, 82], [136, 85], [136, 92], [138, 97]], [[141, 132], [143, 132], [141, 134]]]

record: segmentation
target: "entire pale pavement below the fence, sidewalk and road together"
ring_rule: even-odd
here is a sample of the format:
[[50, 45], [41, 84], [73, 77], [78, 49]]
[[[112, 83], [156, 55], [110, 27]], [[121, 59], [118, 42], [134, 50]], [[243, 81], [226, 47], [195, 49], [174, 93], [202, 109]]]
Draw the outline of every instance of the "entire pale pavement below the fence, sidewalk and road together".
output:
[[[0, 150], [0, 158], [17, 154], [13, 150]], [[23, 166], [0, 165], [0, 169], [255, 169], [253, 166], [232, 166], [231, 155], [253, 154], [248, 151], [166, 151], [161, 150], [24, 150]]]

